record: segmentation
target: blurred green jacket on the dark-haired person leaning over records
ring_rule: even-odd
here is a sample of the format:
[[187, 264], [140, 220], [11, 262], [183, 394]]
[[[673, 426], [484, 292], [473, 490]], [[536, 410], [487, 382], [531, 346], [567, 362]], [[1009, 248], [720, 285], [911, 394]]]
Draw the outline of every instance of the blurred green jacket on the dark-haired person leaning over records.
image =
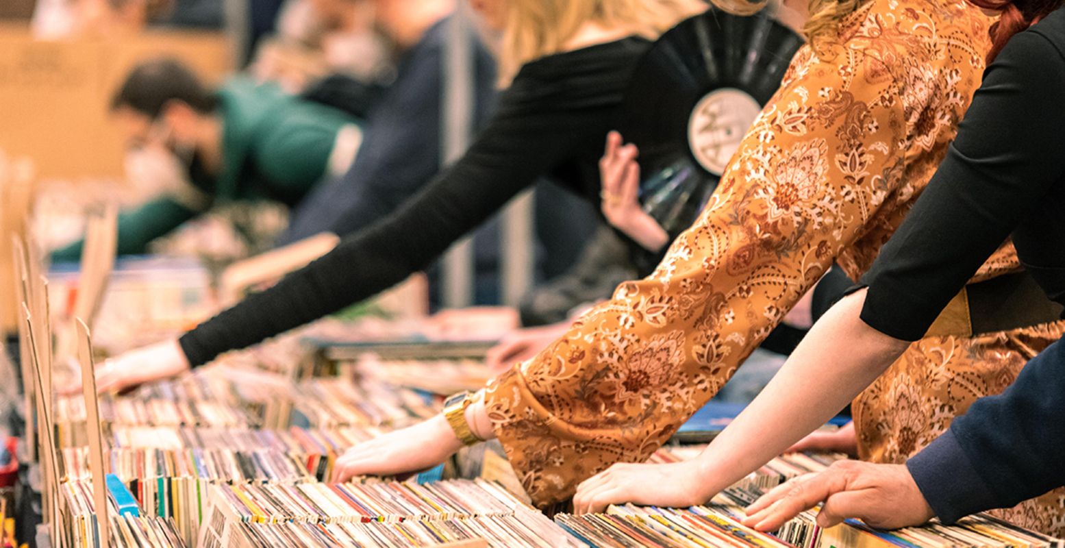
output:
[[[218, 90], [223, 165], [217, 177], [192, 177], [211, 203], [275, 199], [294, 206], [329, 166], [348, 114], [282, 92], [274, 84], [234, 78]], [[175, 196], [161, 196], [118, 216], [118, 254], [144, 253], [148, 242], [202, 213]], [[53, 261], [81, 257], [82, 242], [52, 253]]]

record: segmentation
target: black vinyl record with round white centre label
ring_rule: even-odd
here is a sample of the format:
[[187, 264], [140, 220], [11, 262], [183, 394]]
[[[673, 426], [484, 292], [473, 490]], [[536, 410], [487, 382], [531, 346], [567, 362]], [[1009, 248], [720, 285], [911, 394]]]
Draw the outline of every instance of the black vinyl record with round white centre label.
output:
[[620, 130], [640, 150], [643, 209], [670, 237], [695, 221], [802, 44], [766, 15], [710, 9], [637, 65]]

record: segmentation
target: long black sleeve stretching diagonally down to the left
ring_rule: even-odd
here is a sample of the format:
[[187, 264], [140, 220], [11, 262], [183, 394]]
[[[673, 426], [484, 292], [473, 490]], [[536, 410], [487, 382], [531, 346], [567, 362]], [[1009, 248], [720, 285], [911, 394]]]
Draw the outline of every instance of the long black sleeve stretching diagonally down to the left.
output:
[[636, 62], [628, 37], [521, 68], [466, 154], [392, 215], [181, 337], [193, 365], [340, 310], [424, 269], [539, 177], [597, 200], [597, 161]]

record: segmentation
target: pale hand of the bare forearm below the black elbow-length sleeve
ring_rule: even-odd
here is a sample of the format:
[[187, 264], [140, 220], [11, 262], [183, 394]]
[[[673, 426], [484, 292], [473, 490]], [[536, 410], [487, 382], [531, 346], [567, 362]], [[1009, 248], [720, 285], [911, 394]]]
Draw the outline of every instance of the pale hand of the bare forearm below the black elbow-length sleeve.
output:
[[616, 464], [585, 480], [573, 496], [573, 512], [603, 512], [610, 504], [685, 507], [706, 502], [698, 461]]

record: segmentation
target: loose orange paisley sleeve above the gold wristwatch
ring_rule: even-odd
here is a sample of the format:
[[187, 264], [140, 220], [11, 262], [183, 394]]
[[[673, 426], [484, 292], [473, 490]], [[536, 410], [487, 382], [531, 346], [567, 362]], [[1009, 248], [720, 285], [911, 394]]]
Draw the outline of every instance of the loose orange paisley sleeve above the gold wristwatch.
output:
[[[980, 84], [987, 23], [958, 0], [869, 0], [836, 39], [799, 51], [657, 270], [487, 387], [536, 503], [645, 461], [833, 261], [855, 279], [869, 268]], [[979, 276], [1016, 267], [1004, 245]]]

